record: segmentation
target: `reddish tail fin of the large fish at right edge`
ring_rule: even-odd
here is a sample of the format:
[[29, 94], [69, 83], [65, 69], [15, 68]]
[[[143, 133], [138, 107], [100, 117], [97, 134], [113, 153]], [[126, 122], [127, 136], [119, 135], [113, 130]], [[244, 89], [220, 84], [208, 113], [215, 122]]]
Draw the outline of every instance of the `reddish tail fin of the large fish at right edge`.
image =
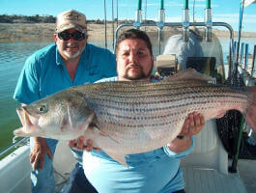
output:
[[243, 113], [246, 122], [256, 132], [256, 87], [248, 87], [251, 97], [248, 102], [248, 107]]

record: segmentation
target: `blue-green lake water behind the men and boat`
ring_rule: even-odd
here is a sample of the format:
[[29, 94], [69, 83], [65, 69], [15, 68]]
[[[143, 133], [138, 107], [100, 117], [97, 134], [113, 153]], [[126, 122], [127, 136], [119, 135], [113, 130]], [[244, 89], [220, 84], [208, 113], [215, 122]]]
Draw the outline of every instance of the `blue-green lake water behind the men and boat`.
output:
[[[224, 59], [228, 55], [229, 40], [220, 39], [224, 54]], [[253, 51], [253, 45], [256, 39], [243, 39], [242, 42], [250, 43], [250, 51]], [[92, 42], [103, 47], [104, 42]], [[19, 103], [14, 101], [13, 94], [15, 84], [26, 58], [34, 51], [49, 44], [49, 42], [9, 42], [0, 43], [0, 150], [12, 143], [13, 130], [20, 126], [15, 109]], [[153, 44], [155, 44], [153, 42]], [[108, 47], [112, 42], [108, 42]], [[158, 53], [157, 45], [154, 45], [154, 53]]]

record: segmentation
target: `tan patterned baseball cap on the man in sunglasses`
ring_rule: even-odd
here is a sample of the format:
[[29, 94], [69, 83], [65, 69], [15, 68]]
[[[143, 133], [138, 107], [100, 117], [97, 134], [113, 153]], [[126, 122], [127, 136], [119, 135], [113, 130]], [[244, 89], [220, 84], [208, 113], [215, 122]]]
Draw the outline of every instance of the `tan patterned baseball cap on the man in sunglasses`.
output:
[[87, 27], [85, 15], [75, 10], [58, 14], [56, 19], [56, 32], [60, 33], [71, 28], [86, 33]]

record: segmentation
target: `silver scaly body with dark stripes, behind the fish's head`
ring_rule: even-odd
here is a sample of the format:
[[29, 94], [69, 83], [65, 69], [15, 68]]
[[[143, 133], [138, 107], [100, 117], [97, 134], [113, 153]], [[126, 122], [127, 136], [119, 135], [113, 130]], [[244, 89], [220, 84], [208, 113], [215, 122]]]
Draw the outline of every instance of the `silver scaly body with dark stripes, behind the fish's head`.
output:
[[100, 130], [123, 145], [120, 151], [126, 147], [129, 153], [169, 143], [180, 133], [188, 113], [201, 112], [208, 120], [221, 109], [243, 111], [247, 103], [244, 91], [202, 81], [110, 82], [84, 87], [79, 91], [94, 109]]

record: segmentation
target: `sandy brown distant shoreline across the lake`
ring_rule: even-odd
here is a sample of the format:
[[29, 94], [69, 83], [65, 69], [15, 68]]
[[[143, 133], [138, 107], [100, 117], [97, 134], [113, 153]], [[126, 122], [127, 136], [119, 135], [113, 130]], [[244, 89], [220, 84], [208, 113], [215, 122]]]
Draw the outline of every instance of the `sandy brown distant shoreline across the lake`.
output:
[[[116, 25], [115, 25], [116, 27]], [[114, 29], [115, 31], [116, 29]], [[107, 24], [107, 40], [113, 39], [112, 24]], [[156, 28], [147, 27], [147, 32], [151, 38], [157, 38]], [[182, 33], [180, 29], [164, 28], [164, 39]], [[229, 38], [229, 32], [213, 29], [217, 37]], [[22, 42], [22, 41], [53, 41], [54, 23], [0, 23], [0, 42]], [[104, 25], [88, 24], [89, 41], [104, 41]], [[237, 37], [235, 32], [235, 38]], [[243, 32], [242, 37], [256, 38], [256, 33]]]

